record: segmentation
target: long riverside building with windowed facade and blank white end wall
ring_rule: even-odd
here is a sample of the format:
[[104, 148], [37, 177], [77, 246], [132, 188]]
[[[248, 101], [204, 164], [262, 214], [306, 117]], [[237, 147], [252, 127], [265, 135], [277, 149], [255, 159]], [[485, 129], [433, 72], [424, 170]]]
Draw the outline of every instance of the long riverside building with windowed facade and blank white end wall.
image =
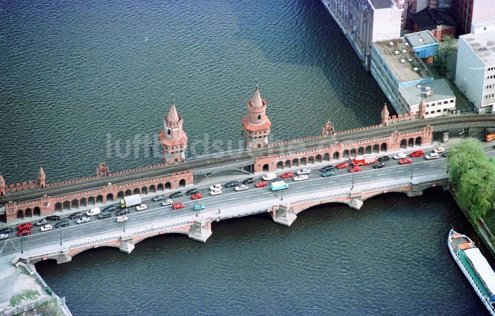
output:
[[322, 0], [366, 70], [371, 43], [400, 37], [401, 12], [392, 0]]

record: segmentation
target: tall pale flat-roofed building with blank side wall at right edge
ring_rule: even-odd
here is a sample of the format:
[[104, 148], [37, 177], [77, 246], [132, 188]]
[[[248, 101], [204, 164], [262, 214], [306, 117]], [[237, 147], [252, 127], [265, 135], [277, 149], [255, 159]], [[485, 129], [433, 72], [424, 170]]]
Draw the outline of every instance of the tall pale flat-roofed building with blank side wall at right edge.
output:
[[481, 113], [495, 113], [495, 30], [459, 37], [455, 85]]

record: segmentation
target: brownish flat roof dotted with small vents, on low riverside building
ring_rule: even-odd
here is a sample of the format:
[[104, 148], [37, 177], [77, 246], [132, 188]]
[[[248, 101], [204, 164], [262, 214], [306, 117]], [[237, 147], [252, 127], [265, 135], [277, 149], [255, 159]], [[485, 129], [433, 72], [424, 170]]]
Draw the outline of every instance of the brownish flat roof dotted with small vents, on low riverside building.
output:
[[433, 81], [433, 75], [405, 39], [375, 42], [373, 45], [387, 63], [399, 87], [407, 86], [401, 83], [430, 78]]

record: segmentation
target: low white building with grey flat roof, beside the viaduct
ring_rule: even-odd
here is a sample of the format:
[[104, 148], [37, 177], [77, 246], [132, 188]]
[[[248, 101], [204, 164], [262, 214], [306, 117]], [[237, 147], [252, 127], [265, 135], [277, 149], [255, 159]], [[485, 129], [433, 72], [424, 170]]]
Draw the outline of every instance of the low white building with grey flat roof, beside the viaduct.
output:
[[425, 117], [445, 115], [455, 109], [454, 92], [445, 79], [399, 88], [399, 101], [409, 113], [419, 111], [419, 103], [425, 100]]

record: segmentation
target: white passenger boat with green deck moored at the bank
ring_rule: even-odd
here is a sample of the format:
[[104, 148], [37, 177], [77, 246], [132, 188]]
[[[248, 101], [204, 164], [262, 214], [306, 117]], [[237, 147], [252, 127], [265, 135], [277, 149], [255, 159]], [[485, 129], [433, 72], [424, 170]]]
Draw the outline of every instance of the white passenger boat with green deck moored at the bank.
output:
[[495, 316], [495, 272], [474, 242], [457, 231], [450, 229], [448, 249], [455, 262], [473, 286], [476, 294]]

